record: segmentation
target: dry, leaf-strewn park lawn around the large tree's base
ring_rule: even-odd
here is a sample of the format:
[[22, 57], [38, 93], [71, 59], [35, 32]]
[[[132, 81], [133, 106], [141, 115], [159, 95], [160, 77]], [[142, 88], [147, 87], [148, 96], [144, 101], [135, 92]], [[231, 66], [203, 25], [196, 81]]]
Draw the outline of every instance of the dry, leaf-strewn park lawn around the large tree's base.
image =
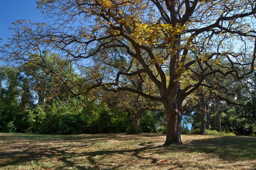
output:
[[0, 170], [256, 170], [256, 138], [182, 135], [0, 133]]

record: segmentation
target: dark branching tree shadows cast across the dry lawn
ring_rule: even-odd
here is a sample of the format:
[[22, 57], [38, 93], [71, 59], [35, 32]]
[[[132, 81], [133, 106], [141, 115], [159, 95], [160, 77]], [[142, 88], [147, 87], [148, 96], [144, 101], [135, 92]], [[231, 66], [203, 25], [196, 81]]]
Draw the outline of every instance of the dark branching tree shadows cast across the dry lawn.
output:
[[[12, 134], [15, 135], [15, 134]], [[11, 136], [12, 136], [11, 135]], [[192, 140], [188, 143], [188, 145], [170, 145], [170, 146], [154, 146], [151, 145], [154, 142], [147, 142], [145, 144], [139, 144], [140, 148], [137, 149], [123, 149], [123, 150], [96, 150], [96, 151], [86, 151], [86, 152], [77, 152], [76, 150], [73, 150], [73, 148], [77, 148], [79, 150], [80, 148], [84, 147], [90, 147], [94, 143], [88, 143], [85, 144], [81, 142], [81, 144], [75, 144], [72, 142], [77, 142], [79, 140], [88, 140], [88, 139], [95, 139], [95, 140], [108, 140], [108, 139], [114, 139], [118, 141], [128, 141], [128, 140], [138, 140], [143, 139], [145, 137], [157, 137], [157, 136], [163, 136], [159, 134], [140, 134], [140, 135], [125, 135], [121, 134], [122, 137], [120, 137], [120, 134], [98, 134], [98, 135], [70, 135], [70, 136], [54, 136], [54, 135], [37, 135], [37, 134], [20, 134], [18, 135], [18, 139], [26, 139], [25, 141], [41, 141], [41, 139], [44, 139], [43, 141], [46, 142], [69, 142], [69, 144], [63, 146], [56, 146], [56, 147], [49, 147], [47, 144], [41, 144], [38, 145], [38, 148], [35, 148], [33, 146], [33, 143], [30, 144], [22, 144], [21, 146], [15, 145], [13, 147], [10, 147], [10, 149], [15, 150], [18, 149], [20, 151], [9, 151], [9, 152], [2, 152], [0, 149], [0, 167], [5, 167], [8, 165], [15, 165], [17, 163], [27, 162], [27, 161], [40, 161], [42, 160], [42, 157], [44, 158], [57, 158], [60, 161], [64, 162], [64, 165], [62, 167], [58, 167], [58, 169], [64, 169], [65, 167], [76, 167], [78, 169], [84, 170], [88, 167], [80, 166], [77, 164], [74, 160], [75, 158], [86, 156], [87, 160], [90, 161], [90, 164], [94, 164], [95, 167], [92, 167], [92, 169], [97, 168], [98, 166], [103, 167], [102, 169], [108, 170], [108, 168], [104, 167], [110, 167], [110, 169], [117, 169], [122, 168], [125, 164], [119, 164], [119, 165], [113, 165], [110, 162], [100, 163], [99, 161], [93, 159], [94, 156], [109, 156], [113, 154], [120, 154], [124, 155], [126, 153], [131, 154], [134, 159], [145, 159], [149, 160], [151, 164], [155, 164], [156, 166], [160, 166], [157, 164], [157, 158], [154, 158], [152, 156], [143, 156], [145, 152], [150, 152], [154, 154], [165, 154], [165, 153], [205, 153], [210, 154], [212, 156], [217, 156], [218, 158], [222, 159], [223, 161], [234, 161], [234, 160], [240, 160], [240, 159], [256, 159], [256, 138], [253, 137], [237, 137], [237, 136], [219, 136], [215, 138], [209, 138], [209, 139], [196, 139]], [[0, 141], [4, 139], [6, 135], [0, 136]], [[52, 138], [51, 138], [52, 137]], [[17, 140], [18, 140], [17, 139]], [[8, 140], [8, 138], [6, 138]], [[150, 139], [147, 139], [150, 140]], [[91, 140], [89, 140], [92, 142]], [[151, 155], [152, 155], [151, 154]], [[5, 161], [1, 161], [1, 159], [5, 159]], [[204, 159], [202, 157], [202, 159]], [[207, 159], [207, 158], [205, 158]], [[175, 165], [175, 164], [173, 164]], [[195, 168], [203, 167], [203, 165], [194, 165]], [[180, 167], [180, 164], [175, 165], [173, 168]], [[256, 167], [256, 164], [255, 164]], [[148, 165], [148, 168], [150, 169], [150, 165]], [[160, 167], [159, 167], [160, 168]], [[180, 167], [182, 168], [182, 167]], [[213, 169], [216, 169], [216, 167], [212, 167]]]

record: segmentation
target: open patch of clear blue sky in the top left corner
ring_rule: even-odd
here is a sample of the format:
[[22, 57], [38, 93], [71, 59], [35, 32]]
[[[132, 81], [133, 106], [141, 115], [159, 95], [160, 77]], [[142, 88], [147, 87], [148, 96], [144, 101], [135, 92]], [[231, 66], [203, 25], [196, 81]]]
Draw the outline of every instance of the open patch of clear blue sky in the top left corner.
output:
[[35, 0], [0, 0], [0, 46], [11, 37], [12, 23], [16, 20], [29, 19], [32, 22], [46, 22], [44, 15], [38, 10]]

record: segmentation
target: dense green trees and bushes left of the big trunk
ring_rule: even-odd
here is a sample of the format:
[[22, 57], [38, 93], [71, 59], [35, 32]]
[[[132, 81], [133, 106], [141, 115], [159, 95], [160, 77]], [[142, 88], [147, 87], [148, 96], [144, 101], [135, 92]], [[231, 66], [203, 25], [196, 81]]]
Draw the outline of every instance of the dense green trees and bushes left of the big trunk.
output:
[[[1, 67], [0, 132], [134, 132], [130, 119], [132, 113], [111, 108], [95, 97], [47, 94], [52, 93], [45, 90], [49, 90], [49, 82], [37, 82], [35, 77], [41, 74], [40, 71], [29, 71], [33, 74], [26, 74], [24, 68]], [[163, 116], [163, 113], [145, 112], [140, 121], [140, 133], [156, 132], [159, 116]]]

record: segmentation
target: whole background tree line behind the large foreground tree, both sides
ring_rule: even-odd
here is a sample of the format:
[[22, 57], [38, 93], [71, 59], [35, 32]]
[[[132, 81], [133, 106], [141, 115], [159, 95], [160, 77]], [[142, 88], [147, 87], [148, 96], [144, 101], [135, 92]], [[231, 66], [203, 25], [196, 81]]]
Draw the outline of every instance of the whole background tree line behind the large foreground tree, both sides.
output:
[[[132, 94], [111, 94], [104, 90], [81, 96], [63, 92], [56, 95], [50, 90], [53, 82], [38, 79], [41, 73], [35, 65], [2, 66], [0, 132], [166, 133], [165, 113], [160, 105], [149, 101], [142, 106]], [[193, 96], [203, 102], [193, 112], [183, 115], [182, 134], [204, 134], [208, 129], [256, 135], [256, 104], [247, 107], [227, 105], [208, 92], [201, 89], [198, 96]], [[236, 101], [248, 99], [250, 96], [241, 95]], [[188, 123], [192, 124], [192, 131]]]

